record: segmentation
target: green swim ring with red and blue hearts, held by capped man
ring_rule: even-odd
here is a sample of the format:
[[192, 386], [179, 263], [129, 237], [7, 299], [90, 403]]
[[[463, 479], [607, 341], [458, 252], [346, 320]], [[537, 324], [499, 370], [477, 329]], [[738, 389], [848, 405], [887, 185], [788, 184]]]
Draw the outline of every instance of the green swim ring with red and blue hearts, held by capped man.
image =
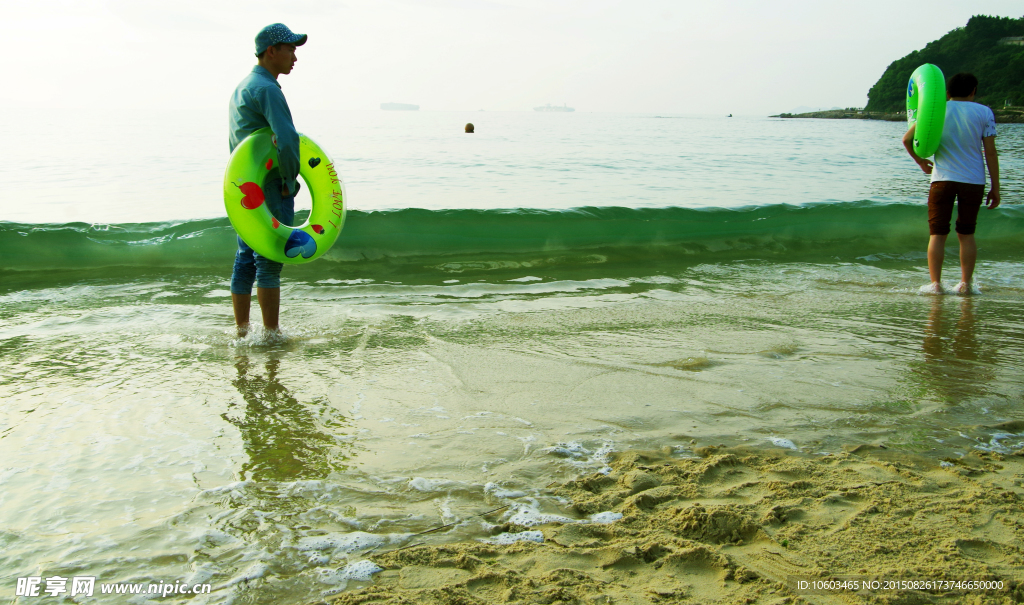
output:
[[331, 158], [311, 138], [299, 135], [299, 175], [312, 198], [309, 219], [282, 224], [263, 204], [263, 181], [278, 166], [278, 139], [261, 128], [234, 147], [224, 172], [224, 208], [239, 236], [261, 256], [281, 263], [306, 263], [330, 250], [345, 223], [345, 186]]

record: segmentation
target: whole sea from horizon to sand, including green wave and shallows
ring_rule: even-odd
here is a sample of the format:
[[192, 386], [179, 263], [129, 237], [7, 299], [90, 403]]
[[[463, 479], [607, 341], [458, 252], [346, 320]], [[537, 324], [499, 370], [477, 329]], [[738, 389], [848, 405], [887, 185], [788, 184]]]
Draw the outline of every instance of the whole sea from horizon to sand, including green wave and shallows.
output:
[[285, 269], [284, 335], [239, 339], [220, 113], [2, 120], [5, 597], [313, 601], [388, 550], [612, 520], [547, 487], [627, 448], [1024, 444], [1017, 125], [958, 297], [919, 292], [902, 124], [296, 112], [348, 219]]

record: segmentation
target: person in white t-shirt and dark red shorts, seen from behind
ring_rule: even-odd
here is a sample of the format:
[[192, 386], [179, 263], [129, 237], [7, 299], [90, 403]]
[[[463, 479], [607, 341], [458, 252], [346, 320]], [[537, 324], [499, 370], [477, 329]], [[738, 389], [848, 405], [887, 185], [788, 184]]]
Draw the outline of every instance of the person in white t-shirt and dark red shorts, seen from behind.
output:
[[978, 211], [985, 202], [986, 165], [992, 180], [986, 206], [992, 209], [999, 205], [995, 116], [988, 106], [974, 102], [977, 93], [978, 79], [971, 74], [956, 74], [946, 83], [946, 119], [934, 163], [919, 158], [913, 153], [915, 125], [903, 135], [903, 146], [907, 153], [925, 174], [932, 175], [932, 186], [928, 191], [928, 226], [931, 232], [928, 242], [928, 272], [932, 284], [928, 289], [936, 294], [943, 292], [942, 261], [945, 258], [954, 200], [956, 236], [961, 247], [961, 283], [953, 288], [953, 292], [977, 292], [972, 285], [974, 265], [978, 258], [974, 231]]

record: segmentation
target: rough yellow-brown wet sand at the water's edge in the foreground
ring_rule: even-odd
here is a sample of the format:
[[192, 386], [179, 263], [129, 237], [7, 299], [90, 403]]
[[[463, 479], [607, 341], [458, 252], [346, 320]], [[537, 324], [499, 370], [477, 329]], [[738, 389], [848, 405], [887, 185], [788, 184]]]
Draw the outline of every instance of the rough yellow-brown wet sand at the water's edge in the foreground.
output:
[[[371, 554], [383, 571], [327, 602], [1024, 602], [1024, 449], [938, 462], [871, 445], [827, 456], [694, 451], [623, 452], [606, 475], [549, 486], [583, 521], [492, 530], [497, 542], [522, 542]], [[609, 512], [622, 518], [589, 520]], [[847, 588], [796, 584], [830, 578]], [[852, 590], [850, 580], [883, 588]], [[886, 590], [892, 580], [1002, 589]]]

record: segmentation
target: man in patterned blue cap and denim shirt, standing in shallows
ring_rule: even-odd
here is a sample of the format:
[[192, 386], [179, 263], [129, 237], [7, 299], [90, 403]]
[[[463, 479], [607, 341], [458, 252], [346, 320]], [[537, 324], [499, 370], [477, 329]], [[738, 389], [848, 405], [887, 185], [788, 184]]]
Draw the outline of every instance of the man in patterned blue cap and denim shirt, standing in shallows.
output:
[[[278, 139], [278, 167], [263, 181], [265, 204], [278, 220], [290, 225], [295, 218], [295, 193], [299, 190], [299, 134], [292, 112], [281, 91], [278, 76], [291, 74], [295, 48], [306, 43], [305, 34], [293, 34], [284, 24], [273, 24], [256, 35], [258, 64], [231, 95], [228, 105], [228, 139], [231, 152], [253, 131], [269, 127]], [[249, 307], [253, 283], [266, 330], [278, 330], [281, 308], [281, 269], [284, 265], [264, 258], [238, 237], [231, 272], [231, 307], [239, 336], [249, 331]]]

